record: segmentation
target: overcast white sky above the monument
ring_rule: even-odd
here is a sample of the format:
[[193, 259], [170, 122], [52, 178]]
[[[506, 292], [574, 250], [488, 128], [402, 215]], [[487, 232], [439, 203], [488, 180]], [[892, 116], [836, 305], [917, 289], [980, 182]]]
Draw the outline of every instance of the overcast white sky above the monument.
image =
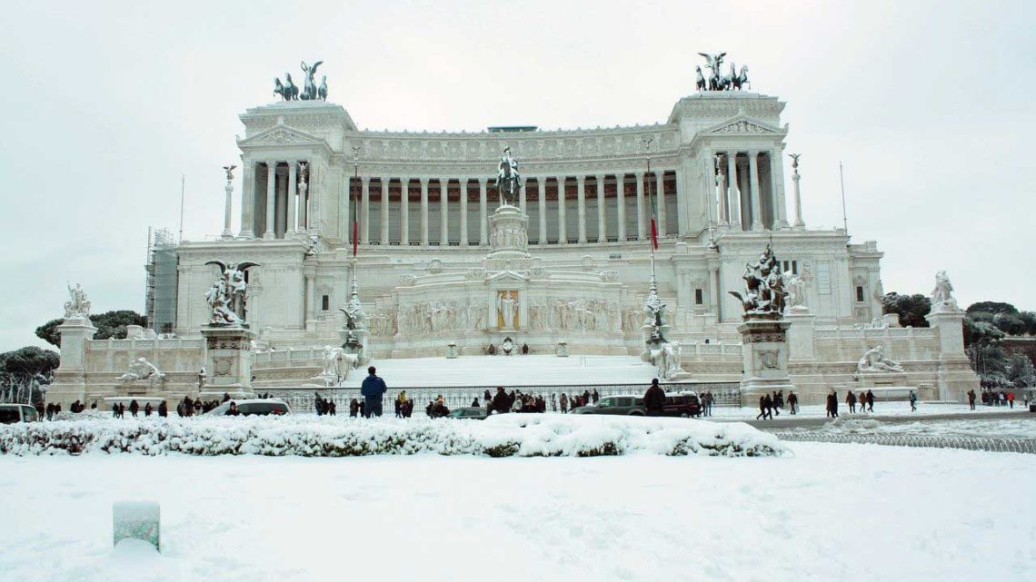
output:
[[40, 344], [66, 281], [143, 311], [147, 227], [176, 230], [185, 174], [184, 238], [220, 232], [237, 115], [303, 59], [361, 127], [478, 130], [664, 121], [697, 53], [725, 51], [787, 103], [807, 226], [841, 223], [842, 159], [886, 291], [946, 269], [963, 304], [1036, 309], [1034, 22], [1034, 2], [10, 2], [0, 350]]

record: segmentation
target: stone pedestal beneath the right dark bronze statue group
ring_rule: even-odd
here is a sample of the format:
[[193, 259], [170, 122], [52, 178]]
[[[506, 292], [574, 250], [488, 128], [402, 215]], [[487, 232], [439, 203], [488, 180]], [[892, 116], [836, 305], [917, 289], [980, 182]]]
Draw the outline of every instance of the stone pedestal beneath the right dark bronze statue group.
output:
[[742, 340], [744, 375], [742, 399], [753, 405], [759, 396], [795, 386], [787, 375], [787, 328], [790, 324], [777, 316], [749, 319], [738, 326]]

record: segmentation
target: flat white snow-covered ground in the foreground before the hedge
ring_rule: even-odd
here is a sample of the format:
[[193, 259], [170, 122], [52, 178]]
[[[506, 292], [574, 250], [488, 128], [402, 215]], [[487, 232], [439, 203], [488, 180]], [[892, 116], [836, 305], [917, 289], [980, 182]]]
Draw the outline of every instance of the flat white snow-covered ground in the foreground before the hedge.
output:
[[[0, 578], [1028, 581], [1036, 456], [0, 457]], [[162, 503], [163, 552], [111, 548]]]

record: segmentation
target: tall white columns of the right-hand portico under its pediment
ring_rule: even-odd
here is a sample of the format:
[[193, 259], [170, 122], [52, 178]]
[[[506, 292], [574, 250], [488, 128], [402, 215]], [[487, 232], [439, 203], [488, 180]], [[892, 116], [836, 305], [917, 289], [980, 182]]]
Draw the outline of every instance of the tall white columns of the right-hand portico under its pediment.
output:
[[706, 163], [712, 166], [707, 176], [714, 180], [707, 192], [716, 194], [715, 204], [709, 204], [710, 220], [730, 230], [788, 228], [779, 152], [716, 150]]

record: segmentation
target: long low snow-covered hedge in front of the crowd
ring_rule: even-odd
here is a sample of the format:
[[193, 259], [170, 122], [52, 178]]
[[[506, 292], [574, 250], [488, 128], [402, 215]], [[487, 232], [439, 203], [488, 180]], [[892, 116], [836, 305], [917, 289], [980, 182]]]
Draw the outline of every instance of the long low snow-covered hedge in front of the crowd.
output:
[[505, 414], [486, 420], [250, 416], [59, 420], [0, 426], [0, 454], [484, 455], [760, 457], [787, 450], [741, 423], [686, 418]]

